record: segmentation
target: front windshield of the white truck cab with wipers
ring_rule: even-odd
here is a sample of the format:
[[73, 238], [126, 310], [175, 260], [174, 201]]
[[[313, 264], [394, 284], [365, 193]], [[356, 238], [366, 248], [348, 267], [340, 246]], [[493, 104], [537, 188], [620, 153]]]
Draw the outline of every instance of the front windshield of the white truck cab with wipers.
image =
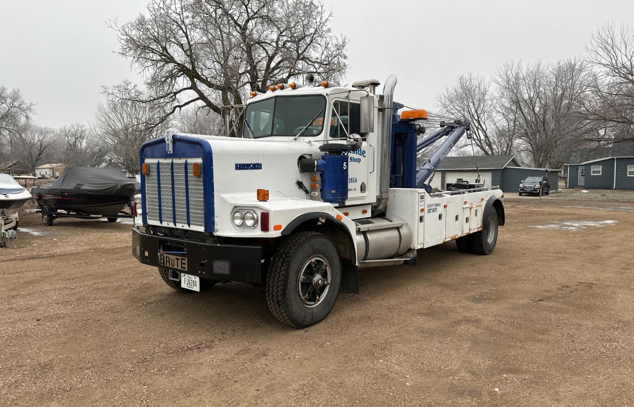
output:
[[[315, 117], [321, 110], [320, 115]], [[323, 130], [324, 96], [277, 96], [250, 103], [245, 112], [244, 138], [269, 136], [316, 136]], [[314, 120], [311, 120], [315, 117]]]

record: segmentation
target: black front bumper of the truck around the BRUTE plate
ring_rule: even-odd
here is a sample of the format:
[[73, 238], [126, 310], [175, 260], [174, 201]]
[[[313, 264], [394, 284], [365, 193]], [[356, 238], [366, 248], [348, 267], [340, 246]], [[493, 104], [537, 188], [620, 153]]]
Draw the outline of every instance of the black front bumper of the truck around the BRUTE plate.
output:
[[190, 275], [209, 280], [262, 283], [262, 249], [259, 246], [198, 243], [159, 235], [149, 235], [133, 228], [132, 254], [143, 264], [159, 267], [159, 253], [178, 247], [187, 259]]

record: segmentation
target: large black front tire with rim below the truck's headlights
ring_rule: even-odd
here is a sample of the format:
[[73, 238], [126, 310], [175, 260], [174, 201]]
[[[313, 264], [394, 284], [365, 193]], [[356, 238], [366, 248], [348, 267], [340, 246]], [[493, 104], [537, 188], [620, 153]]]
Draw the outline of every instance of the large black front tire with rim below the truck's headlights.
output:
[[328, 315], [341, 281], [339, 252], [328, 236], [294, 233], [281, 243], [266, 277], [266, 302], [275, 318], [294, 328]]

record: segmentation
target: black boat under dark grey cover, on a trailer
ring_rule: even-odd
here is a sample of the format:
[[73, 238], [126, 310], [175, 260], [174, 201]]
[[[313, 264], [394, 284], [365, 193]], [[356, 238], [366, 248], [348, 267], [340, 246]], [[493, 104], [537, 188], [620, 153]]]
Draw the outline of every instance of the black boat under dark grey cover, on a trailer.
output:
[[42, 213], [46, 209], [48, 213], [65, 210], [89, 216], [116, 216], [129, 205], [137, 188], [118, 168], [70, 167], [60, 178], [36, 186], [31, 192]]

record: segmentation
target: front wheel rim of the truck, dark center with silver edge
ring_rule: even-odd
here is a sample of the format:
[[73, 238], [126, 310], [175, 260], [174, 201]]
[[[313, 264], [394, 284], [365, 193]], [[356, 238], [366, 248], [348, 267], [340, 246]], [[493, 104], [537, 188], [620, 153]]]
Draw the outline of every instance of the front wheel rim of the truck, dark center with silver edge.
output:
[[297, 294], [302, 304], [314, 308], [321, 304], [330, 290], [330, 263], [322, 255], [314, 255], [297, 276]]

